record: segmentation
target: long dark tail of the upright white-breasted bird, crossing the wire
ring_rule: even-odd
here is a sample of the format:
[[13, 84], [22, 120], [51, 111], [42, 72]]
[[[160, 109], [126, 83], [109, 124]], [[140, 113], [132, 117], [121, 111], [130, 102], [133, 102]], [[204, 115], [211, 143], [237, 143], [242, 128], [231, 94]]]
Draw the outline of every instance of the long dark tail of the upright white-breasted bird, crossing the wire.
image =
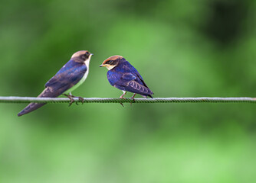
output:
[[[55, 98], [57, 97], [56, 96], [56, 93], [52, 92], [51, 91], [51, 87], [47, 87], [44, 89], [43, 92], [41, 92], [40, 95], [38, 95], [38, 98]], [[46, 103], [30, 103], [28, 104], [28, 106], [26, 108], [24, 108], [19, 114], [18, 116], [22, 116], [24, 114], [28, 114], [30, 113], [31, 111], [34, 111], [38, 108], [41, 108], [44, 104]]]

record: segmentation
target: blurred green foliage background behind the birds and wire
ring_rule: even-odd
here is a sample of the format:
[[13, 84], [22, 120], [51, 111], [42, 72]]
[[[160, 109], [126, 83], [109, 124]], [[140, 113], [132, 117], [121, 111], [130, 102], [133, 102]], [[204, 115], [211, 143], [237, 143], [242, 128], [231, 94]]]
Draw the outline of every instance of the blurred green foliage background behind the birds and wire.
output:
[[[255, 24], [254, 0], [2, 0], [0, 95], [90, 50], [74, 95], [119, 97], [99, 68], [118, 54], [154, 97], [254, 97]], [[255, 104], [25, 105], [0, 104], [0, 182], [256, 181]]]

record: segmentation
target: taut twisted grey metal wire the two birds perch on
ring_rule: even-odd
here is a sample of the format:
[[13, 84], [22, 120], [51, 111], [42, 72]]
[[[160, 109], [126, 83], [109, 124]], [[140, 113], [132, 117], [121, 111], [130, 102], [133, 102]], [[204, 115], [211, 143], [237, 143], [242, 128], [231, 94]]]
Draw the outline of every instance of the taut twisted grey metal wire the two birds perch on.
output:
[[[79, 98], [74, 98], [79, 101]], [[0, 103], [69, 103], [69, 98], [1, 97]], [[256, 98], [84, 98], [84, 103], [256, 103]]]

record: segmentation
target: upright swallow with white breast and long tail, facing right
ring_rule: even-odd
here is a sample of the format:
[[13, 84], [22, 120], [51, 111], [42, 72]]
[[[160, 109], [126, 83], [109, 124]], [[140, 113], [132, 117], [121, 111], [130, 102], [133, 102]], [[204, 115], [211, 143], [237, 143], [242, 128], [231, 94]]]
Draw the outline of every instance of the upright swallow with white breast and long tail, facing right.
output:
[[[89, 51], [78, 51], [71, 56], [71, 59], [45, 84], [45, 89], [38, 95], [38, 98], [57, 98], [59, 95], [65, 95], [74, 102], [71, 92], [80, 86], [89, 73], [90, 57], [93, 56]], [[82, 98], [80, 100], [83, 101]], [[44, 104], [30, 103], [23, 109], [18, 116], [22, 116]]]

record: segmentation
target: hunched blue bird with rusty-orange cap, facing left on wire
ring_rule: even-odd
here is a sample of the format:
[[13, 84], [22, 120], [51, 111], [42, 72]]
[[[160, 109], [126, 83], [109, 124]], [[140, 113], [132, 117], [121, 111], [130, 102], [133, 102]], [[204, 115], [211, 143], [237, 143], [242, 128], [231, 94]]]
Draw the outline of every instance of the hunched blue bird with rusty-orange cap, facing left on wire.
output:
[[110, 58], [103, 61], [100, 67], [106, 67], [109, 70], [107, 79], [110, 85], [123, 91], [123, 95], [120, 98], [123, 98], [126, 92], [134, 93], [133, 100], [136, 94], [153, 98], [151, 96], [153, 92], [143, 81], [143, 77], [123, 56], [110, 56]]

